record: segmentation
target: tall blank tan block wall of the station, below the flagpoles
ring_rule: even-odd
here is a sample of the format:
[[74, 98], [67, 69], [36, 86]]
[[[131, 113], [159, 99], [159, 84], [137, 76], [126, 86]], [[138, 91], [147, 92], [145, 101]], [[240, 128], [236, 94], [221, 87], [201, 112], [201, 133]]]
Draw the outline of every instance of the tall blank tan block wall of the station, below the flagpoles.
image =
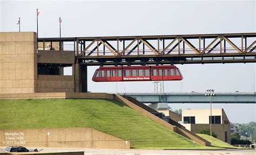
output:
[[0, 94], [36, 92], [35, 32], [0, 32]]

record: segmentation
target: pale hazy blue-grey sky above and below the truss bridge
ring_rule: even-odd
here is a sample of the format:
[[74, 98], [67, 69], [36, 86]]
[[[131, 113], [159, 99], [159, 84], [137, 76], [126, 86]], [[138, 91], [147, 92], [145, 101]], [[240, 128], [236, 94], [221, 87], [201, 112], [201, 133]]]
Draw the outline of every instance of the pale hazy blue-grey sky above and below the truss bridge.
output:
[[[0, 31], [36, 31], [39, 37], [183, 35], [256, 32], [255, 1], [3, 1]], [[253, 92], [255, 64], [177, 65], [184, 79], [165, 82], [165, 92]], [[88, 90], [92, 92], [154, 92], [152, 82], [95, 83], [98, 66], [89, 67]], [[69, 72], [69, 70], [68, 70]], [[201, 104], [171, 105], [173, 109], [207, 108]], [[253, 104], [218, 104], [231, 122], [256, 121]], [[237, 113], [240, 113], [239, 116]]]

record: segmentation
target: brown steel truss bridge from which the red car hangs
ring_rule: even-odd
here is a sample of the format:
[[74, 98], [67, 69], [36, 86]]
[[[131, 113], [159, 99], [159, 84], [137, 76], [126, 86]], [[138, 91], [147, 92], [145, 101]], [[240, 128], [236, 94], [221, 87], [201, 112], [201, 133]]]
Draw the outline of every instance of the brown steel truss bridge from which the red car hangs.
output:
[[76, 63], [83, 65], [256, 62], [256, 33], [38, 38], [38, 42], [59, 42], [60, 50], [74, 51]]

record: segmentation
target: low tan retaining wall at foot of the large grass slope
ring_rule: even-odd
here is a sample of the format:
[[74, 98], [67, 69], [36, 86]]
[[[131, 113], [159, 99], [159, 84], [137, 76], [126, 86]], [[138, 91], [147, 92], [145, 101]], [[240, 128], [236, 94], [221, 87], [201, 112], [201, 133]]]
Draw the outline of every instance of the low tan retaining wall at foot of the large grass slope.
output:
[[130, 149], [130, 141], [87, 127], [0, 130], [0, 146]]

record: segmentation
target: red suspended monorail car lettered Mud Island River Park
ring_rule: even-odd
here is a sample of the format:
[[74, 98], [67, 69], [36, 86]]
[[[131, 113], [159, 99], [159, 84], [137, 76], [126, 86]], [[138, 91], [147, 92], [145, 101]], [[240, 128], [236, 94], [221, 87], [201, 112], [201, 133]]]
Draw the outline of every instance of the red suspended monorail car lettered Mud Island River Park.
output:
[[94, 82], [182, 80], [174, 65], [100, 67], [92, 77]]

